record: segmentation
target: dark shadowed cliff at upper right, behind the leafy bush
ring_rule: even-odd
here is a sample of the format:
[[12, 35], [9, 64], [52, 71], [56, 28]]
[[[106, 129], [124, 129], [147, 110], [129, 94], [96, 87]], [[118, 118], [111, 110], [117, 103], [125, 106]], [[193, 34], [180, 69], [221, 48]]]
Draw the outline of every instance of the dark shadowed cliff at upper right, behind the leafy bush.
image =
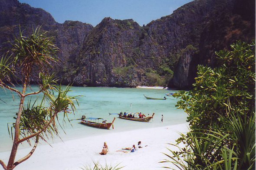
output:
[[[216, 67], [218, 63], [215, 51], [230, 48], [230, 44], [236, 40], [250, 42], [255, 38], [253, 31], [255, 30], [255, 1], [216, 0], [204, 1], [203, 4], [212, 6], [212, 9], [208, 9], [207, 13], [204, 14], [204, 19], [200, 24], [201, 29], [197, 34], [199, 41], [192, 43], [197, 51], [190, 53], [190, 55], [181, 54], [174, 71], [174, 77], [168, 84], [169, 87], [177, 87], [178, 89], [191, 87], [196, 76], [197, 64]], [[203, 7], [200, 10], [203, 9], [206, 8]], [[191, 62], [187, 62], [189, 58], [192, 58]], [[183, 65], [187, 65], [189, 74], [187, 74], [186, 69], [182, 68]], [[182, 80], [184, 78], [181, 77], [187, 78]]]

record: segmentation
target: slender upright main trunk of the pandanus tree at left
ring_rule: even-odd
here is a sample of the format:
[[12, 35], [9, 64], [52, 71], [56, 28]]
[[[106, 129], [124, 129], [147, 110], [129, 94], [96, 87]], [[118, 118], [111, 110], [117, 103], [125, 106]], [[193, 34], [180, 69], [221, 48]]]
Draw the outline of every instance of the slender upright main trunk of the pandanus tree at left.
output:
[[20, 137], [20, 118], [22, 114], [22, 109], [23, 109], [23, 103], [25, 99], [25, 92], [26, 92], [26, 83], [23, 83], [23, 90], [22, 90], [22, 96], [20, 96], [20, 107], [19, 107], [19, 112], [17, 114], [16, 122], [15, 122], [15, 132], [14, 132], [14, 141], [13, 141], [13, 148], [10, 154], [10, 158], [7, 164], [7, 169], [8, 170], [13, 170], [14, 168], [14, 161], [18, 149], [18, 141]]

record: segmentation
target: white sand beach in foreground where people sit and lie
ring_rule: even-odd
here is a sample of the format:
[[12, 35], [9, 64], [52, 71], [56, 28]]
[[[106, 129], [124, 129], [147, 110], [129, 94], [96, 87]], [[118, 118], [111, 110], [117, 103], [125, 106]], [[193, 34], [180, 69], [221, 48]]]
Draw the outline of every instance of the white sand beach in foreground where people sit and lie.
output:
[[[173, 148], [167, 143], [175, 143], [179, 132], [188, 132], [188, 124], [169, 125], [157, 128], [136, 129], [127, 132], [115, 132], [79, 138], [49, 145], [39, 145], [35, 153], [25, 162], [18, 165], [16, 170], [81, 170], [81, 167], [93, 165], [93, 161], [102, 165], [119, 167], [121, 170], [163, 170], [164, 166], [174, 167], [171, 164], [158, 163], [167, 157], [162, 154]], [[104, 142], [107, 142], [109, 152], [100, 155]], [[134, 153], [119, 152], [121, 148], [137, 145], [141, 146]], [[148, 145], [145, 147], [145, 145]], [[166, 148], [167, 147], [167, 148]], [[30, 148], [18, 150], [16, 159], [25, 156]], [[0, 159], [7, 162], [10, 152], [1, 152]]]

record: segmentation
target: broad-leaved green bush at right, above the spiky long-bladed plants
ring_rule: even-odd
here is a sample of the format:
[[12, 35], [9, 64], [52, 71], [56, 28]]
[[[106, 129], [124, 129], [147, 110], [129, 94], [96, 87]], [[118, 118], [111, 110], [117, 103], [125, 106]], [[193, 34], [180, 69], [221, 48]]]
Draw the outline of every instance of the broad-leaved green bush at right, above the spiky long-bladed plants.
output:
[[197, 67], [193, 90], [174, 95], [181, 99], [177, 107], [187, 112], [192, 129], [221, 128], [229, 102], [240, 114], [252, 112], [255, 106], [255, 44], [237, 42], [231, 48], [216, 52], [223, 63], [220, 67]]

